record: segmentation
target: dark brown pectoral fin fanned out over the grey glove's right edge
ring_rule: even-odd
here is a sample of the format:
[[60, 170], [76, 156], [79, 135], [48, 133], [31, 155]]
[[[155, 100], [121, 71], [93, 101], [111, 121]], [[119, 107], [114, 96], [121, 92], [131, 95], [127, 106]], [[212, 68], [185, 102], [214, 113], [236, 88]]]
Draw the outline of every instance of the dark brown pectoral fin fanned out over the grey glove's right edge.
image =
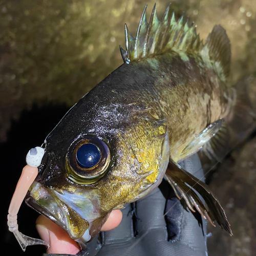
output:
[[[232, 236], [224, 209], [204, 182], [186, 172], [186, 170], [182, 169], [172, 160], [169, 162], [165, 176], [173, 187], [176, 196], [179, 199], [183, 198], [191, 211], [195, 212], [197, 209], [201, 216], [212, 225], [214, 225], [213, 222], [216, 220]], [[196, 192], [204, 199], [207, 208]]]

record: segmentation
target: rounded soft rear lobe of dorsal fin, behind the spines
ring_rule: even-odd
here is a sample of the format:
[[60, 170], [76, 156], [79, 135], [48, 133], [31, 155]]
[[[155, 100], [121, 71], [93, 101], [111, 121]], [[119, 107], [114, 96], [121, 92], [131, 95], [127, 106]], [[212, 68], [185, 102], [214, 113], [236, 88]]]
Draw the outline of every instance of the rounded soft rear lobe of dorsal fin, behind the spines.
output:
[[214, 26], [206, 39], [201, 55], [212, 63], [220, 79], [225, 81], [230, 71], [231, 49], [226, 30], [221, 25]]

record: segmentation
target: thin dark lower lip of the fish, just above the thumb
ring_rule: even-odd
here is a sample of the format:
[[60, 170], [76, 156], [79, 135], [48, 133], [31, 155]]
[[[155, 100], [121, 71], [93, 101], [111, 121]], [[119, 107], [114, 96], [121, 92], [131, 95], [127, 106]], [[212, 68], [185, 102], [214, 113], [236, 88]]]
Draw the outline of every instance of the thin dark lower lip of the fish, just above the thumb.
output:
[[44, 215], [61, 228], [67, 230], [67, 226], [65, 224], [63, 224], [60, 220], [54, 218], [54, 216], [51, 214], [49, 210], [47, 210], [46, 208], [44, 208], [43, 206], [36, 202], [36, 200], [31, 196], [30, 191], [28, 191], [25, 197], [25, 203], [32, 209], [36, 210], [39, 214]]

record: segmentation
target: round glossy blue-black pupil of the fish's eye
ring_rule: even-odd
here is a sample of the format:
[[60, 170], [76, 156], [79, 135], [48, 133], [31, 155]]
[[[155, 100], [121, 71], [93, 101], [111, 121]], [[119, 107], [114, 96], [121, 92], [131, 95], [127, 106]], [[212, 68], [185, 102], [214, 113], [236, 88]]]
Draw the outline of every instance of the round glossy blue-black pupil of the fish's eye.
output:
[[91, 143], [80, 146], [76, 153], [77, 164], [82, 168], [91, 168], [100, 160], [99, 148]]

